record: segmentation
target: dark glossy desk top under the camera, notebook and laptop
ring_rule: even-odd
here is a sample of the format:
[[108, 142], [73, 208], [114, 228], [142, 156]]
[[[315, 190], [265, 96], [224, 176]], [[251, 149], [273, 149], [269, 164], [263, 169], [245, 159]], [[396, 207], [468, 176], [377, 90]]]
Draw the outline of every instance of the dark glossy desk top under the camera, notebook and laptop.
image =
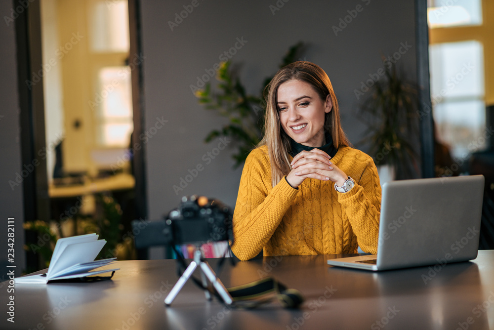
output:
[[[113, 281], [15, 287], [15, 324], [1, 329], [494, 329], [494, 250], [473, 262], [381, 273], [329, 267], [328, 255], [225, 265], [229, 287], [272, 275], [299, 289], [299, 310], [230, 310], [187, 283], [171, 307], [174, 260], [119, 261]], [[216, 259], [211, 259], [212, 266]], [[432, 269], [432, 270], [431, 270]], [[430, 280], [424, 283], [424, 276]], [[5, 311], [6, 287], [0, 305]], [[468, 324], [468, 323], [471, 324]], [[299, 324], [303, 324], [300, 326]], [[37, 328], [38, 327], [38, 328]], [[44, 327], [44, 328], [43, 328]], [[466, 328], [467, 327], [467, 328]]]

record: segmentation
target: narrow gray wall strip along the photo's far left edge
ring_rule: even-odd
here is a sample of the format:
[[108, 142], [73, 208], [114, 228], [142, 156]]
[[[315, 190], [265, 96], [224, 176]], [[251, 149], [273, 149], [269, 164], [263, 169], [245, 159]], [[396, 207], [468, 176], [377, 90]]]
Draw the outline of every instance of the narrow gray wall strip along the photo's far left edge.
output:
[[[7, 218], [15, 218], [16, 273], [24, 268], [24, 222], [22, 184], [11, 189], [8, 181], [15, 181], [21, 172], [19, 95], [17, 92], [17, 61], [15, 26], [5, 23], [3, 16], [10, 16], [11, 1], [0, 1], [0, 282], [5, 278], [7, 262]], [[10, 264], [10, 263], [9, 263]]]

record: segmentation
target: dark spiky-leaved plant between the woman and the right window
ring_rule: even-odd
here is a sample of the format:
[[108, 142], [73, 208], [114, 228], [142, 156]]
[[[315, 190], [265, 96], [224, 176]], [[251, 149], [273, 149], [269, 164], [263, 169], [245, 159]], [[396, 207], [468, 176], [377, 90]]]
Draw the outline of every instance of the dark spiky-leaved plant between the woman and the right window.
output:
[[417, 86], [408, 82], [393, 63], [383, 63], [382, 79], [370, 87], [371, 96], [359, 109], [361, 118], [368, 124], [365, 138], [359, 144], [370, 143], [369, 154], [376, 165], [391, 165], [404, 178], [412, 177], [417, 171], [411, 143], [417, 136]]

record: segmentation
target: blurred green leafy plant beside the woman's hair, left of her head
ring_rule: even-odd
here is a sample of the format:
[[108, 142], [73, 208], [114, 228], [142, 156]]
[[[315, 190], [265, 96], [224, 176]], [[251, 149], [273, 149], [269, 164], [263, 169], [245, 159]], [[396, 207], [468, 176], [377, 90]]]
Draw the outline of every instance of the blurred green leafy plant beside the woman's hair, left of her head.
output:
[[[301, 55], [303, 48], [302, 42], [291, 46], [280, 68], [294, 62]], [[272, 77], [264, 80], [260, 96], [247, 94], [230, 61], [220, 64], [216, 79], [219, 81], [218, 91], [213, 91], [211, 84], [207, 82], [204, 89], [196, 91], [196, 97], [206, 109], [215, 110], [219, 115], [228, 118], [229, 123], [221, 129], [213, 129], [209, 132], [205, 142], [210, 142], [218, 136], [231, 137], [238, 146], [237, 153], [233, 155], [236, 161], [234, 167], [238, 167], [262, 138], [265, 113], [263, 91]]]

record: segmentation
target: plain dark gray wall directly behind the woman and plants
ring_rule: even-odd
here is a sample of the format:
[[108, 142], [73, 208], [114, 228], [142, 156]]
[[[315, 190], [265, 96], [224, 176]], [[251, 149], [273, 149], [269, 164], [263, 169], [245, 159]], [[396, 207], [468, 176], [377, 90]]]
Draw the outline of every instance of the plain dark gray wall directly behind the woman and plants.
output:
[[[177, 20], [180, 23], [171, 31], [168, 21], [174, 21], [176, 14], [185, 10], [183, 6], [192, 2], [199, 5], [181, 22]], [[290, 45], [306, 42], [305, 59], [328, 73], [339, 100], [343, 128], [352, 143], [361, 140], [365, 129], [355, 118], [362, 98], [357, 100], [354, 90], [383, 67], [381, 53], [392, 55], [402, 43], [411, 46], [406, 52], [401, 48], [404, 54], [397, 53], [398, 64], [416, 80], [412, 0], [192, 2], [141, 1], [144, 126], [155, 126], [157, 117], [168, 121], [163, 128], [153, 129], [155, 134], [146, 144], [152, 219], [177, 206], [183, 195], [202, 194], [235, 206], [241, 169], [232, 169], [232, 149], [221, 151], [208, 165], [203, 160], [219, 143], [205, 144], [204, 137], [221, 127], [224, 119], [198, 105], [190, 85], [218, 63], [220, 54], [234, 47], [237, 38], [247, 42], [232, 61], [242, 65], [241, 78], [251, 93], [257, 93], [264, 78], [276, 72]], [[273, 15], [270, 6], [277, 3], [284, 5]], [[360, 12], [355, 10], [357, 5]], [[346, 27], [340, 22], [345, 16]], [[339, 24], [344, 29], [335, 35], [332, 26]], [[176, 194], [173, 185], [178, 186], [188, 169], [199, 164], [204, 170]]]

